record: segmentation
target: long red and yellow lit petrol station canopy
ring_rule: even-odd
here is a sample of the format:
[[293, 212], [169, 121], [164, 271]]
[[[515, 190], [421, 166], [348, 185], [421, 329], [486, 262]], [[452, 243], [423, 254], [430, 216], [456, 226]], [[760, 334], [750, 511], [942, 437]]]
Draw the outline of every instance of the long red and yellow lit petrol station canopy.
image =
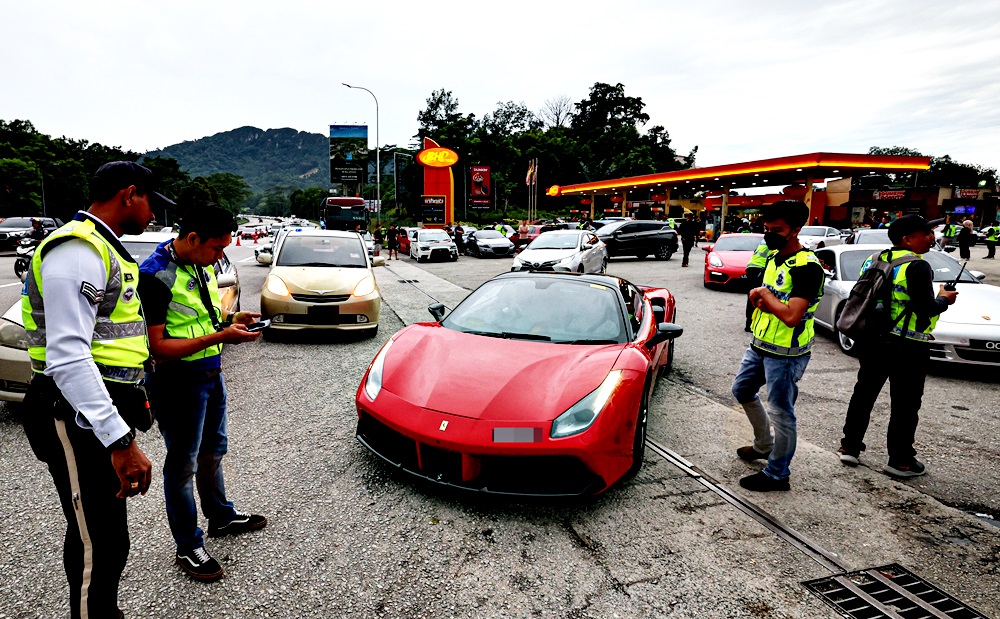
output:
[[676, 172], [645, 174], [565, 187], [553, 185], [546, 194], [549, 196], [598, 196], [647, 190], [664, 192], [669, 195], [669, 192], [676, 190], [728, 192], [737, 188], [780, 188], [792, 184], [802, 184], [811, 189], [813, 183], [822, 182], [828, 178], [889, 172], [920, 172], [929, 168], [930, 157], [811, 153], [707, 168], [677, 170]]

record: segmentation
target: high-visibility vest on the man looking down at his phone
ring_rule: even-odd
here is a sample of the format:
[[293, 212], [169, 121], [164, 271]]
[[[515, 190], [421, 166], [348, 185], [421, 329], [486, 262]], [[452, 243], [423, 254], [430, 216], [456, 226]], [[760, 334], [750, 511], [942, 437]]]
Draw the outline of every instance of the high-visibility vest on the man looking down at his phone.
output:
[[[170, 289], [170, 304], [167, 306], [167, 322], [164, 331], [167, 337], [193, 339], [215, 333], [215, 322], [202, 301], [198, 287], [198, 269], [193, 264], [178, 264], [170, 260], [166, 268], [156, 272], [156, 279]], [[222, 301], [219, 298], [219, 283], [215, 278], [215, 268], [203, 268], [208, 286], [212, 311], [217, 321], [222, 320]], [[222, 344], [209, 346], [204, 350], [184, 357], [182, 361], [197, 361], [222, 354]]]

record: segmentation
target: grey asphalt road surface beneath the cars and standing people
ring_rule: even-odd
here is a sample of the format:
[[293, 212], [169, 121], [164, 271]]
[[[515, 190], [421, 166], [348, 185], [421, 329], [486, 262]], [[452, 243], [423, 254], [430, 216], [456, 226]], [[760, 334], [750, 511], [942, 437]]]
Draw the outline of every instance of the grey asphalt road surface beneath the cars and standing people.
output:
[[[732, 450], [749, 427], [728, 395], [747, 341], [743, 298], [701, 286], [702, 256], [695, 250], [689, 269], [675, 257], [615, 260], [611, 271], [670, 288], [686, 329], [674, 374], [651, 403], [650, 437], [735, 487], [748, 470]], [[247, 245], [230, 257], [243, 308], [252, 310], [266, 269]], [[18, 294], [10, 262], [0, 257], [0, 304]], [[426, 264], [419, 272], [429, 275], [417, 285], [472, 289], [507, 268], [506, 260], [468, 258]], [[388, 284], [408, 269], [417, 272], [403, 259], [377, 274]], [[997, 271], [988, 281], [1000, 282]], [[393, 300], [427, 302], [408, 290], [397, 286], [393, 294], [411, 297]], [[353, 400], [378, 347], [402, 326], [387, 305], [374, 340], [310, 334], [226, 348], [229, 496], [271, 522], [208, 540], [226, 577], [195, 583], [173, 565], [162, 486], [154, 483], [129, 503], [132, 551], [120, 596], [127, 616], [833, 616], [799, 584], [827, 571], [649, 455], [633, 482], [572, 502], [482, 501], [389, 470], [355, 441]], [[884, 453], [876, 438], [863, 458], [870, 469], [836, 462], [855, 369], [821, 338], [801, 383], [793, 491], [750, 498], [855, 568], [898, 561], [1000, 613], [1000, 532], [935, 500], [1000, 511], [991, 468], [1000, 436], [996, 384], [988, 376], [928, 380], [918, 450], [930, 474], [900, 483], [877, 472]], [[883, 405], [871, 437], [884, 436]], [[19, 414], [28, 411], [0, 410], [0, 619], [62, 616], [62, 515]], [[162, 440], [154, 432], [139, 444], [159, 470]]]

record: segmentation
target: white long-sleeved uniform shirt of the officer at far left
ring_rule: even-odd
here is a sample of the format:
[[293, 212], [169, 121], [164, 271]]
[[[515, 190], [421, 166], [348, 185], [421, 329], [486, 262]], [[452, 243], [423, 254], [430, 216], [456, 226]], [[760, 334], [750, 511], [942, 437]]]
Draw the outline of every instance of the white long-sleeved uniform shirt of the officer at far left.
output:
[[[81, 215], [94, 222], [106, 241], [118, 245], [122, 256], [129, 255], [103, 221], [84, 212], [77, 218]], [[97, 323], [97, 303], [92, 297], [95, 291], [103, 292], [107, 283], [104, 261], [83, 239], [60, 243], [42, 260], [42, 289], [49, 300], [45, 308], [45, 375], [55, 381], [76, 411], [76, 424], [93, 430], [104, 446], [129, 432], [128, 424], [111, 402], [91, 353]]]

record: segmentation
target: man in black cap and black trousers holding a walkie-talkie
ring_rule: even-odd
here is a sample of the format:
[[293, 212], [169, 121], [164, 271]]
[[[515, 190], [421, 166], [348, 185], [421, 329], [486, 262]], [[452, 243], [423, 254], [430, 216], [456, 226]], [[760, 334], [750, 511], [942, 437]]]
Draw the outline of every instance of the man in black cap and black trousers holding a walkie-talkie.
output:
[[[889, 318], [898, 322], [884, 341], [859, 346], [861, 369], [847, 407], [839, 453], [844, 464], [858, 465], [858, 456], [865, 450], [864, 438], [872, 407], [888, 379], [892, 400], [887, 438], [889, 462], [882, 470], [893, 477], [907, 478], [927, 472], [923, 463], [916, 459], [913, 442], [930, 361], [928, 342], [937, 317], [955, 302], [958, 293], [945, 290], [942, 284], [937, 297], [934, 296], [934, 271], [919, 258], [920, 254], [930, 251], [935, 242], [933, 226], [923, 217], [904, 215], [896, 219], [889, 225], [889, 240], [892, 248], [877, 254], [878, 258], [892, 262], [912, 256], [913, 260], [896, 267], [892, 274]], [[873, 255], [865, 262], [862, 273], [875, 258]]]

